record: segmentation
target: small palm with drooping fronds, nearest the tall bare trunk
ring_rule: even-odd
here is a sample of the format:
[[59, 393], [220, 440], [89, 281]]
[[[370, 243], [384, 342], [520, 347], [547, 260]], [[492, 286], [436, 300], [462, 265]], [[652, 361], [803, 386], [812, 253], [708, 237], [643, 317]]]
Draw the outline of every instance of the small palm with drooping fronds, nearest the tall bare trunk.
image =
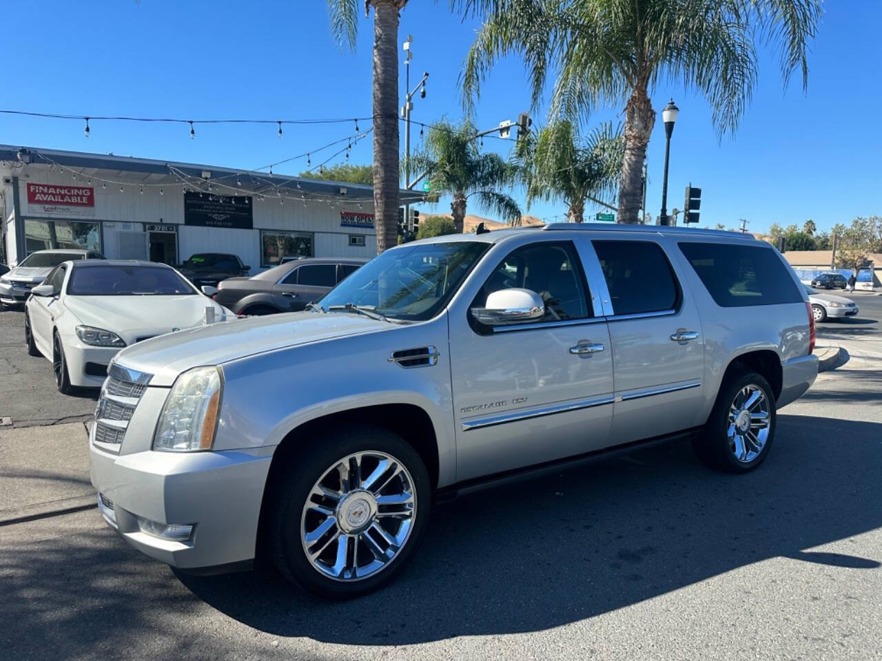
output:
[[479, 208], [497, 213], [511, 224], [520, 221], [520, 207], [512, 197], [499, 191], [515, 182], [515, 173], [496, 153], [478, 151], [475, 125], [465, 120], [460, 126], [438, 122], [426, 133], [422, 151], [410, 157], [410, 171], [424, 172], [436, 195], [452, 195], [453, 225], [462, 233], [469, 197]]

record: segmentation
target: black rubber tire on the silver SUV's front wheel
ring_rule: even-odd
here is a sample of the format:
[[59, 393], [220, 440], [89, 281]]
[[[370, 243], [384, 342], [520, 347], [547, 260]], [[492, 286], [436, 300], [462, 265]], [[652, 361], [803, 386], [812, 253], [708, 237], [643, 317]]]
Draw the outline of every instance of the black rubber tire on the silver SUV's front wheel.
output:
[[[387, 565], [362, 579], [337, 580], [325, 576], [314, 567], [304, 550], [301, 538], [301, 527], [307, 516], [304, 515], [304, 506], [310, 499], [313, 486], [318, 484], [323, 475], [345, 457], [363, 451], [385, 453], [394, 457], [407, 470], [415, 494], [412, 524], [400, 550]], [[381, 488], [377, 493], [382, 492]], [[407, 566], [407, 561], [413, 556], [429, 520], [431, 486], [429, 473], [419, 454], [399, 435], [381, 427], [341, 427], [326, 435], [321, 442], [303, 447], [296, 451], [295, 456], [289, 456], [287, 465], [273, 477], [269, 497], [272, 501], [268, 503], [268, 550], [282, 576], [320, 597], [347, 599], [383, 587]], [[340, 512], [340, 507], [342, 505], [334, 509], [334, 512]], [[340, 515], [341, 519], [344, 517]], [[335, 526], [334, 531], [339, 529]], [[363, 549], [363, 546], [359, 546], [358, 541], [354, 544], [353, 553], [359, 553], [358, 549]], [[346, 553], [348, 559], [349, 546]]]

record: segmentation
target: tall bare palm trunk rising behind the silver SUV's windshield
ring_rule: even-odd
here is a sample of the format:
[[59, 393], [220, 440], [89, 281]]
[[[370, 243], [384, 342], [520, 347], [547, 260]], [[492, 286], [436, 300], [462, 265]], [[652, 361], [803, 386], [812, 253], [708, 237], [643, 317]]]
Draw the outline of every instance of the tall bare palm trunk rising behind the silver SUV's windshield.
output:
[[[355, 49], [358, 0], [328, 0], [331, 32]], [[374, 215], [377, 253], [398, 243], [398, 12], [407, 0], [364, 0], [374, 8]]]

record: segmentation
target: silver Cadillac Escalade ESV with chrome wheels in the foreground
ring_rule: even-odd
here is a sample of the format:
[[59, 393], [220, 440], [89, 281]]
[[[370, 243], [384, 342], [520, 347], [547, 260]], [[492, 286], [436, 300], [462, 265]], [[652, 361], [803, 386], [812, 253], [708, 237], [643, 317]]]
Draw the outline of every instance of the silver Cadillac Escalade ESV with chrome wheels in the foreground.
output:
[[123, 349], [92, 427], [108, 524], [178, 568], [387, 583], [433, 499], [690, 438], [763, 462], [814, 323], [747, 234], [551, 224], [387, 250], [305, 312]]

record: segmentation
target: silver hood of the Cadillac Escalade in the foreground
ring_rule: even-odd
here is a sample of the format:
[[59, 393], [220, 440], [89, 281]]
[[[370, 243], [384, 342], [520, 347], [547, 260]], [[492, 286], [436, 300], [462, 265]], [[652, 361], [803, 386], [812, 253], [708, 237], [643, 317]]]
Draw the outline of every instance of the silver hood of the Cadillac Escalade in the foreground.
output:
[[255, 353], [397, 328], [392, 323], [347, 313], [291, 312], [253, 316], [179, 331], [129, 346], [114, 359], [153, 375], [151, 385], [169, 386], [181, 372], [220, 365]]

